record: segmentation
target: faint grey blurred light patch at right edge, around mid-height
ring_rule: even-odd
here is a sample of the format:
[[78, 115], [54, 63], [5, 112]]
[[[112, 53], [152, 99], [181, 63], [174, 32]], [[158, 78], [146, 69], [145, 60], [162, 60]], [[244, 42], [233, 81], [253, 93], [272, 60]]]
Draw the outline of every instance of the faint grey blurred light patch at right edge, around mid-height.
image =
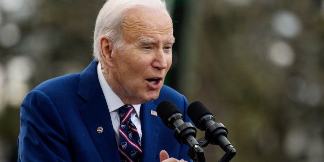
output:
[[320, 86], [314, 82], [307, 82], [301, 77], [291, 78], [288, 88], [288, 97], [299, 103], [317, 106], [321, 100]]

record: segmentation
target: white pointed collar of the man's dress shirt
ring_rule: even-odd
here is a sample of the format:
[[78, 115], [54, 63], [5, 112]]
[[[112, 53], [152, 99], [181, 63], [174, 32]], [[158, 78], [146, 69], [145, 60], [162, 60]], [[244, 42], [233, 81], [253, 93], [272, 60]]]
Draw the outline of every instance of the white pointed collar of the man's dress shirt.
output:
[[[98, 73], [98, 79], [99, 83], [102, 89], [102, 92], [105, 96], [109, 112], [117, 110], [119, 107], [124, 106], [124, 102], [121, 101], [121, 99], [112, 91], [110, 86], [108, 85], [106, 79], [103, 76], [102, 70], [101, 70], [101, 64], [100, 62], [97, 65], [97, 73]], [[140, 116], [140, 109], [141, 105], [133, 105], [136, 113], [138, 116]]]

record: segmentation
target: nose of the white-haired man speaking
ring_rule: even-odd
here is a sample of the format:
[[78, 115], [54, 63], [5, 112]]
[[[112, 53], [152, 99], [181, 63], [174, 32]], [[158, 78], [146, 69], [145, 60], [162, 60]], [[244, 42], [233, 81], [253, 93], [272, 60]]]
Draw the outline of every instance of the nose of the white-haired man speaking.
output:
[[[170, 60], [171, 59], [171, 60]], [[165, 53], [163, 49], [155, 52], [154, 61], [152, 66], [158, 69], [165, 69], [168, 67], [168, 63], [172, 61], [172, 53]]]

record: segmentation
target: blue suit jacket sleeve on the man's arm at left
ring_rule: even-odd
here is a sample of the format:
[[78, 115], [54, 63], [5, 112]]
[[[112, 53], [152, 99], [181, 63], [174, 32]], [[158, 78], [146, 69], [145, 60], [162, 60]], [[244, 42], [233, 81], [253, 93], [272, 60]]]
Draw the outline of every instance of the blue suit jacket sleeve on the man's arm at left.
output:
[[71, 161], [68, 136], [48, 96], [31, 91], [20, 110], [18, 161]]

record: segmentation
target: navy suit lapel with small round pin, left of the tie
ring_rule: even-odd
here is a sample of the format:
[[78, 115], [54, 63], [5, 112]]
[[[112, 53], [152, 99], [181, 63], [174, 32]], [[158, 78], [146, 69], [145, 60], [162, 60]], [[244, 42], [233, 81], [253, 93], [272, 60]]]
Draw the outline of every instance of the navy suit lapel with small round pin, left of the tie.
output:
[[[101, 90], [96, 61], [80, 75], [78, 94], [86, 103], [79, 108], [88, 131], [103, 161], [120, 161], [110, 113]], [[102, 133], [97, 129], [102, 127]]]

